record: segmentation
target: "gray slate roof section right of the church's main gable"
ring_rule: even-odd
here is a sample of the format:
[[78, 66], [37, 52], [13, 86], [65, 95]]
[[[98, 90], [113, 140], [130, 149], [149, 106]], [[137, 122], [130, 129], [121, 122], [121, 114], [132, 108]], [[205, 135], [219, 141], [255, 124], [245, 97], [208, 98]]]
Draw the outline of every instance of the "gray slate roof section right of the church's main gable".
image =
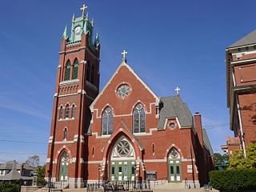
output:
[[158, 130], [165, 129], [166, 118], [178, 118], [181, 128], [193, 126], [193, 116], [179, 95], [160, 98], [159, 110]]

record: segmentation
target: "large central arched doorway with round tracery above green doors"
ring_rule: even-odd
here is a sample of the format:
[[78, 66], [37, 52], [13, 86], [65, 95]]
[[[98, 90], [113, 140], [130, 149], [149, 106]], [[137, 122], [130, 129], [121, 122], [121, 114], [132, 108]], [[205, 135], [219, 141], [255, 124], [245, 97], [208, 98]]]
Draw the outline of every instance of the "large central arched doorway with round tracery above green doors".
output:
[[114, 144], [110, 154], [110, 180], [134, 180], [136, 170], [136, 156], [130, 141], [121, 137]]

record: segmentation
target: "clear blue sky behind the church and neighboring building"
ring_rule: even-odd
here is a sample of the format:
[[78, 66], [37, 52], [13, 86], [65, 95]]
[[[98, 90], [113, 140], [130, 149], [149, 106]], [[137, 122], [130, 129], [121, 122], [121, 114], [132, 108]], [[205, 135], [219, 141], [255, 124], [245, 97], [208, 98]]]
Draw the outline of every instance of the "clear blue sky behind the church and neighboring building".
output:
[[[25, 161], [47, 141], [60, 39], [82, 0], [0, 3], [0, 162]], [[229, 130], [225, 48], [255, 29], [255, 1], [90, 0], [101, 41], [102, 88], [128, 51], [128, 64], [158, 96], [181, 88], [202, 114], [215, 152]], [[6, 142], [16, 141], [16, 142]], [[18, 141], [18, 142], [17, 142]], [[22, 141], [22, 143], [19, 143]], [[33, 143], [24, 143], [33, 142]]]

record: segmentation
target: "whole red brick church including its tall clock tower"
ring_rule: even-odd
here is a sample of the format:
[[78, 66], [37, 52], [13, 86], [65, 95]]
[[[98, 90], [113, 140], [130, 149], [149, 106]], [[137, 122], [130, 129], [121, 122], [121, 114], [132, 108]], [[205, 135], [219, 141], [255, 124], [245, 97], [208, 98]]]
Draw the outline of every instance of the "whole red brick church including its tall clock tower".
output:
[[100, 42], [85, 8], [62, 35], [46, 179], [70, 188], [98, 180], [206, 183], [214, 158], [201, 114], [179, 94], [154, 94], [126, 51], [99, 90]]

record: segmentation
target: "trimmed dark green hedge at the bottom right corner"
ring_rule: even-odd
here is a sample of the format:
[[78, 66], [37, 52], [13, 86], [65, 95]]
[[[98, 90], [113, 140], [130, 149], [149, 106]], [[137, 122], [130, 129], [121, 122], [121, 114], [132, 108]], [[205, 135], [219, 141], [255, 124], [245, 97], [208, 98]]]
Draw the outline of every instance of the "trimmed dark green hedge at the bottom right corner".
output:
[[210, 182], [216, 190], [233, 192], [256, 190], [256, 169], [250, 170], [213, 170]]

